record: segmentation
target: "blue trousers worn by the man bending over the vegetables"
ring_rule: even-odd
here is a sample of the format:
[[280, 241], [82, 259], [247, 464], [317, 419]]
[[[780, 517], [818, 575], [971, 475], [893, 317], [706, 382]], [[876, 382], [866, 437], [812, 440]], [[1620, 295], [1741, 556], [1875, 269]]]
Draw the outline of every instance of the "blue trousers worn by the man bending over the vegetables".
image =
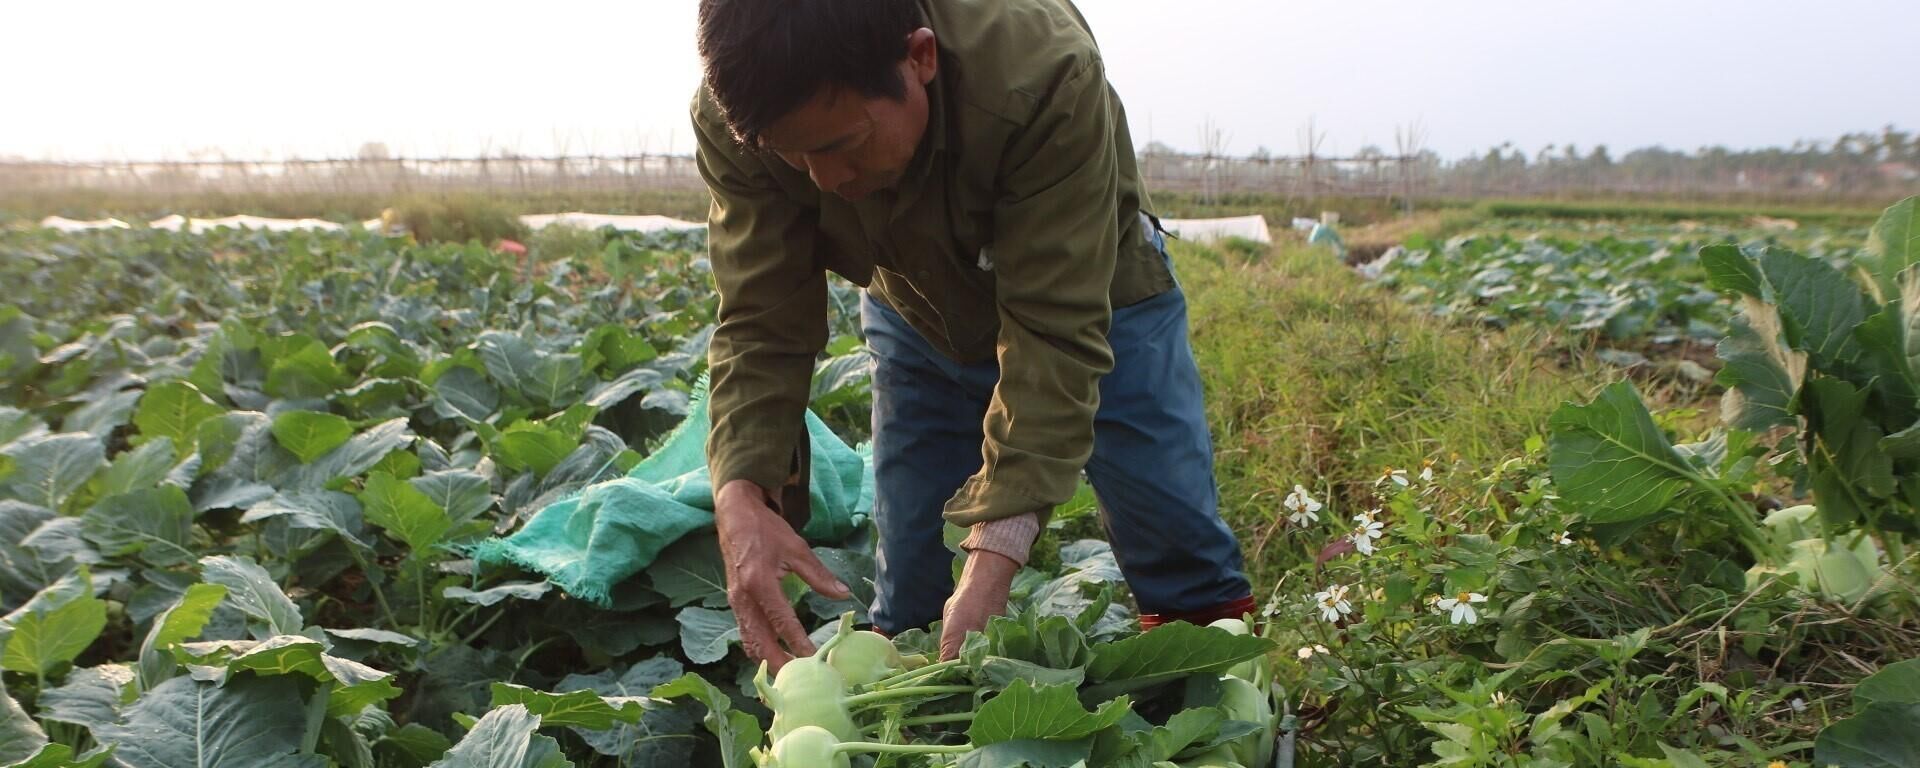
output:
[[[891, 307], [862, 298], [874, 353], [874, 624], [887, 634], [941, 618], [952, 553], [941, 511], [981, 467], [981, 420], [998, 363], [960, 365]], [[1100, 380], [1087, 478], [1140, 612], [1206, 611], [1250, 593], [1240, 543], [1219, 518], [1187, 296], [1173, 288], [1114, 311], [1114, 372]]]

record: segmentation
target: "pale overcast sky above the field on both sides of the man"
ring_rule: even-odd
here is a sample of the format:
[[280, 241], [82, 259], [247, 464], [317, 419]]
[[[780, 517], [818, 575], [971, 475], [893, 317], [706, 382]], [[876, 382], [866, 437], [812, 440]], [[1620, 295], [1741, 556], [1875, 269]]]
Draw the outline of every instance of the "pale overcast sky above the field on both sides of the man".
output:
[[[0, 156], [687, 152], [693, 0], [0, 0]], [[1914, 0], [1083, 0], [1148, 138], [1233, 154], [1920, 131]]]

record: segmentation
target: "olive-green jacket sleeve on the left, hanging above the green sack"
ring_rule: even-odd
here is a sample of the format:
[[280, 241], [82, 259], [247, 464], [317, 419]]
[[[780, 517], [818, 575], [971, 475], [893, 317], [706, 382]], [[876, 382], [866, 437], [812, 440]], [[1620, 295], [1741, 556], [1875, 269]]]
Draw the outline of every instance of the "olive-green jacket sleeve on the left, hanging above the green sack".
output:
[[814, 359], [828, 344], [818, 215], [780, 188], [764, 157], [735, 144], [701, 109], [705, 98], [703, 88], [693, 109], [695, 159], [712, 192], [707, 244], [720, 292], [708, 348], [707, 465], [714, 490], [751, 480], [795, 520], [785, 507], [806, 499], [806, 399]]

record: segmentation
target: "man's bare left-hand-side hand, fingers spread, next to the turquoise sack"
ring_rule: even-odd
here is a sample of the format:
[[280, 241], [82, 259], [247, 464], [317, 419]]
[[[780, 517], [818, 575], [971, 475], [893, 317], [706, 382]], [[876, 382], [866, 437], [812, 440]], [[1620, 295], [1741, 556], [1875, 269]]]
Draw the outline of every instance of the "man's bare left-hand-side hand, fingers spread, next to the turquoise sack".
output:
[[747, 657], [764, 660], [774, 672], [793, 657], [810, 657], [814, 643], [780, 589], [780, 580], [795, 574], [831, 599], [852, 593], [814, 557], [806, 540], [768, 507], [766, 492], [749, 480], [732, 480], [714, 493], [714, 528], [726, 561], [726, 599], [739, 620], [739, 641]]

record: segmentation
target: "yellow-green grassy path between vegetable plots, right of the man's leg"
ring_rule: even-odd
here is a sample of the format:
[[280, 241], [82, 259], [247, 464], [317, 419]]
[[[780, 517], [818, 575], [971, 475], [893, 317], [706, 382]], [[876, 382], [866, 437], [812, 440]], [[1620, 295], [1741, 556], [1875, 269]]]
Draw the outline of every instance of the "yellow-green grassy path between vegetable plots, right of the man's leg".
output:
[[1386, 467], [1492, 467], [1609, 378], [1561, 369], [1542, 334], [1475, 332], [1405, 307], [1327, 252], [1283, 244], [1244, 261], [1179, 246], [1177, 263], [1223, 515], [1261, 584], [1302, 557], [1265, 545], [1294, 484], [1338, 513]]

